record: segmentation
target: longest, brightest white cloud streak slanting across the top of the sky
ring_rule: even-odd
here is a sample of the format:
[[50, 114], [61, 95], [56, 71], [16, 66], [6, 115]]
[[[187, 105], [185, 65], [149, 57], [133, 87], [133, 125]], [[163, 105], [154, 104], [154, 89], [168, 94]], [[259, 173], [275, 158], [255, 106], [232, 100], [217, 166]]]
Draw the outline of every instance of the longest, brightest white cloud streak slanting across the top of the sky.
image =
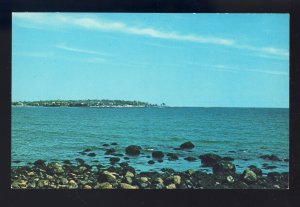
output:
[[273, 57], [285, 60], [288, 60], [289, 58], [289, 51], [281, 48], [245, 45], [240, 42], [236, 42], [233, 39], [217, 36], [202, 36], [200, 34], [182, 34], [176, 31], [162, 31], [149, 27], [135, 27], [127, 25], [123, 22], [107, 21], [93, 17], [70, 17], [60, 13], [55, 13], [54, 15], [49, 13], [13, 13], [13, 17], [25, 21], [30, 21], [31, 23], [41, 26], [76, 26], [96, 31], [114, 31], [158, 39], [185, 41], [199, 44], [220, 45], [250, 51], [257, 54], [257, 56], [260, 57]]

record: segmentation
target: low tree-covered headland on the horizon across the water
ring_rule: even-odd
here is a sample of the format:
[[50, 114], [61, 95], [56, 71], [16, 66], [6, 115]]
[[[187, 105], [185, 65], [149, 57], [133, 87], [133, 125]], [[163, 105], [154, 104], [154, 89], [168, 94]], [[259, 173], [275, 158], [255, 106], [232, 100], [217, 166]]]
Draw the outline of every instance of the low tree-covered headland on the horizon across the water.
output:
[[12, 106], [43, 106], [43, 107], [96, 107], [96, 108], [133, 108], [133, 107], [167, 107], [165, 103], [160, 105], [142, 101], [124, 100], [44, 100], [44, 101], [16, 101]]

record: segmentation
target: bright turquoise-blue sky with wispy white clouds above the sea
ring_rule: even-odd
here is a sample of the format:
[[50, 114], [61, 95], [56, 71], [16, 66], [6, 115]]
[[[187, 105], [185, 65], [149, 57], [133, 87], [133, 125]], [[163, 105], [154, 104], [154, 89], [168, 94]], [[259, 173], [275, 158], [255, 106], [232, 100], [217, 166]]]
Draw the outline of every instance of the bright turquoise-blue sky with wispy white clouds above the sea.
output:
[[13, 13], [12, 100], [289, 107], [288, 14]]

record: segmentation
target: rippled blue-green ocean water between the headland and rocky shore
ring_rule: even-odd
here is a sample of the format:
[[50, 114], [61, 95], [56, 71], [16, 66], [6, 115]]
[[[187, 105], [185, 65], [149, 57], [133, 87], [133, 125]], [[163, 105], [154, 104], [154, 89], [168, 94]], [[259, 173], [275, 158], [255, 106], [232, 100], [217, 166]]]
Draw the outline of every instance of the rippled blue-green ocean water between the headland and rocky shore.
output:
[[[128, 145], [173, 152], [179, 160], [149, 165], [151, 152], [130, 157], [137, 170], [158, 171], [173, 168], [210, 172], [201, 167], [199, 155], [216, 153], [233, 157], [237, 171], [256, 165], [269, 171], [288, 172], [289, 163], [267, 161], [260, 155], [275, 154], [289, 158], [289, 111], [265, 108], [69, 108], [12, 107], [12, 166], [26, 165], [38, 159], [75, 162], [82, 158], [89, 164], [109, 165], [104, 143], [125, 154]], [[192, 141], [195, 148], [175, 150]], [[79, 154], [93, 148], [96, 157]], [[126, 155], [125, 155], [126, 156]], [[184, 160], [196, 157], [195, 162]], [[20, 163], [14, 161], [19, 160]], [[263, 164], [275, 166], [264, 169]]]

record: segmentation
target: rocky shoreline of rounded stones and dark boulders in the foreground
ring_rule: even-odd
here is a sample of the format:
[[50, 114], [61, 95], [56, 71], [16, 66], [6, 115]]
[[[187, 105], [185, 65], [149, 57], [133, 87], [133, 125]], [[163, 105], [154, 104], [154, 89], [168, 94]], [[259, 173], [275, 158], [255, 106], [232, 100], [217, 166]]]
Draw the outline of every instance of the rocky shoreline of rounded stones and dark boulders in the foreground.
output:
[[[180, 150], [192, 149], [194, 145], [186, 142]], [[141, 147], [131, 145], [125, 149], [127, 156], [139, 156]], [[90, 150], [86, 150], [89, 152]], [[110, 149], [107, 153], [113, 154]], [[89, 152], [93, 156], [92, 152]], [[165, 154], [153, 151], [152, 158], [159, 162]], [[176, 154], [166, 154], [175, 159]], [[13, 189], [288, 189], [288, 172], [269, 172], [254, 165], [243, 173], [236, 173], [233, 158], [208, 153], [199, 156], [204, 166], [211, 167], [212, 173], [200, 170], [177, 172], [162, 168], [161, 172], [137, 172], [128, 162], [119, 162], [118, 157], [110, 158], [111, 166], [89, 165], [76, 159], [63, 162], [37, 160], [32, 165], [14, 167], [11, 170]], [[192, 161], [194, 158], [187, 159]], [[276, 155], [265, 155], [263, 159], [278, 160]], [[151, 161], [151, 160], [150, 160]], [[153, 161], [153, 160], [152, 160]], [[153, 161], [154, 162], [154, 161]], [[148, 163], [149, 165], [151, 163]]]

